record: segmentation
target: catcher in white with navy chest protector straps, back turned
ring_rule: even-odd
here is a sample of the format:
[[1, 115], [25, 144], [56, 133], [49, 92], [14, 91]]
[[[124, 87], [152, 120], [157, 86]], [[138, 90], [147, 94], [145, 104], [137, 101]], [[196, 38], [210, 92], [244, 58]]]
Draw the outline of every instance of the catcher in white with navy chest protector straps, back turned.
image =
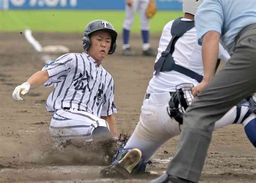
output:
[[[202, 49], [197, 43], [194, 27], [194, 15], [201, 3], [202, 0], [183, 1], [184, 17], [164, 26], [154, 76], [149, 81], [140, 121], [126, 145], [118, 149], [113, 163], [101, 170], [101, 176], [108, 177], [115, 175], [115, 172], [144, 172], [156, 150], [180, 134], [184, 110], [193, 99], [191, 88], [203, 79]], [[221, 45], [219, 58], [225, 61], [230, 58]], [[253, 126], [256, 126], [256, 114], [253, 112], [255, 101], [254, 97], [248, 97], [234, 106], [215, 123], [215, 129], [242, 124], [256, 147], [256, 137], [252, 132]], [[165, 182], [162, 179], [152, 182]]]

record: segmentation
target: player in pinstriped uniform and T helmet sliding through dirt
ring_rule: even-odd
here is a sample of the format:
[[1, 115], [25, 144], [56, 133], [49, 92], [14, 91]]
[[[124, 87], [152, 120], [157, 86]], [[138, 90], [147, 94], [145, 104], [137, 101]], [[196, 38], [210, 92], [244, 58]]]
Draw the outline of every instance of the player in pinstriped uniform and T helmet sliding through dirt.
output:
[[98, 142], [116, 136], [114, 80], [102, 66], [116, 50], [116, 37], [110, 22], [90, 22], [83, 36], [86, 53], [68, 53], [45, 65], [17, 86], [12, 98], [23, 101], [20, 93], [42, 84], [54, 86], [46, 109], [52, 113], [50, 133], [57, 142]]

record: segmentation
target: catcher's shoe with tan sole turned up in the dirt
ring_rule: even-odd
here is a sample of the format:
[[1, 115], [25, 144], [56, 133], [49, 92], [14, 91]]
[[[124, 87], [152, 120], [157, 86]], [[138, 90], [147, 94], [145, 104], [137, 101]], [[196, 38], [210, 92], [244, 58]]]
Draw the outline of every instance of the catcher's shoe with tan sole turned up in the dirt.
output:
[[141, 156], [140, 149], [132, 149], [118, 163], [113, 163], [101, 170], [100, 177], [129, 177], [129, 173], [140, 162]]

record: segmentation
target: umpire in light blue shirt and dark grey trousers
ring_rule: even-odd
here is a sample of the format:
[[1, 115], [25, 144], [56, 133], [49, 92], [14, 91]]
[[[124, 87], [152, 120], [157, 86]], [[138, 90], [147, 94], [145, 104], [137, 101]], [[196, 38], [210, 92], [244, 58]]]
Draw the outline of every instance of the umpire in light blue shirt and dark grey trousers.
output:
[[[151, 183], [198, 182], [215, 122], [256, 92], [256, 1], [204, 0], [195, 22], [202, 45], [204, 79], [192, 90], [198, 96], [184, 116], [176, 155], [167, 172]], [[219, 41], [231, 58], [214, 77]]]

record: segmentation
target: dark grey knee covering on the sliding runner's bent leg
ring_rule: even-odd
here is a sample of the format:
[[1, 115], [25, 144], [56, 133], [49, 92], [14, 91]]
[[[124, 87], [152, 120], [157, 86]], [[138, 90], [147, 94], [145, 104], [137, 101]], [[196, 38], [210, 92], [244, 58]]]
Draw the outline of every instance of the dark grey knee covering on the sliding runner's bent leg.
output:
[[99, 142], [112, 138], [112, 134], [107, 127], [99, 126], [92, 131], [92, 141]]

